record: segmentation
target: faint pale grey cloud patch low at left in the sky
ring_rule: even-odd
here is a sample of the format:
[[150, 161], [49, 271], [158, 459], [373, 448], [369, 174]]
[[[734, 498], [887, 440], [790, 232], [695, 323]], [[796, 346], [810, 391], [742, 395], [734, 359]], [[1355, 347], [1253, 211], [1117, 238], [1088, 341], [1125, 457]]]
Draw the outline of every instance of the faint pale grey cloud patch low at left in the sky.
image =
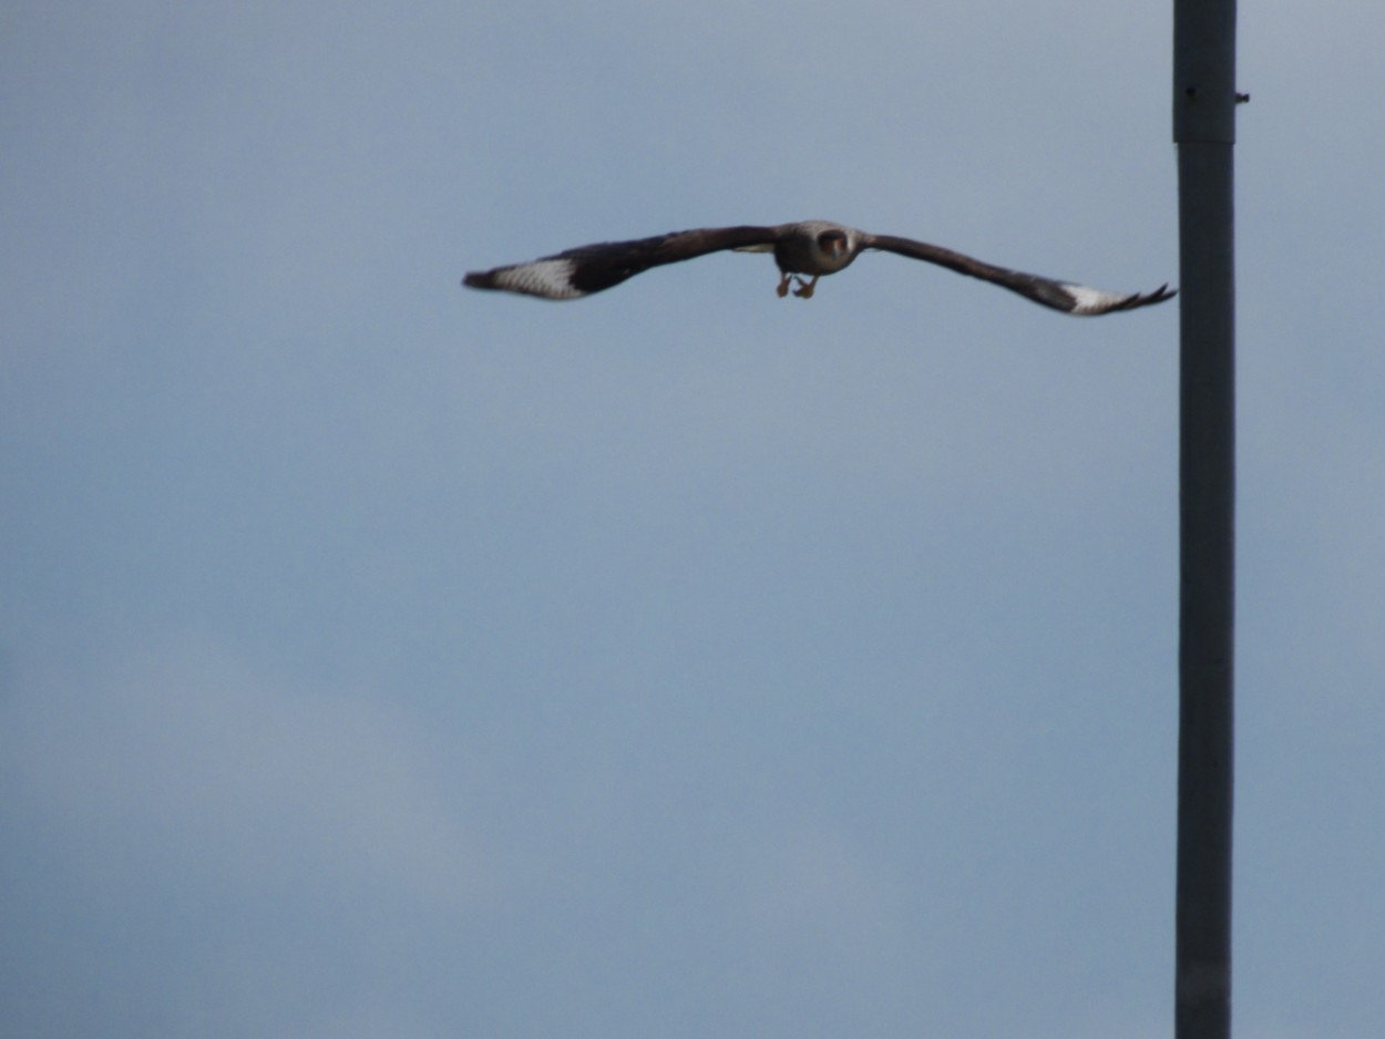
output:
[[8, 713], [17, 795], [102, 874], [312, 878], [449, 907], [486, 887], [424, 733], [382, 698], [305, 690], [184, 640], [98, 676], [21, 679]]

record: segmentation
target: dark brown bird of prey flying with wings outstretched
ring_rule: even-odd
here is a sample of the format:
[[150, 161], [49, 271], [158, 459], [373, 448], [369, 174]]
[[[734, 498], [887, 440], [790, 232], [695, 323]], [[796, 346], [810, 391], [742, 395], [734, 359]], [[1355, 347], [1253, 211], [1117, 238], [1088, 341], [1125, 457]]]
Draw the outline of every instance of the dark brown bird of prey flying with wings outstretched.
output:
[[1104, 292], [1071, 281], [997, 267], [940, 245], [899, 238], [893, 234], [871, 234], [827, 220], [781, 223], [773, 227], [701, 227], [658, 234], [652, 238], [580, 245], [530, 263], [472, 272], [463, 278], [463, 284], [542, 299], [579, 299], [619, 285], [650, 267], [679, 263], [723, 249], [773, 252], [780, 269], [776, 291], [780, 296], [785, 296], [791, 283], [795, 283], [794, 295], [801, 299], [812, 299], [820, 277], [842, 270], [866, 249], [884, 249], [927, 263], [938, 263], [960, 274], [1008, 288], [1054, 310], [1079, 316], [1162, 303], [1177, 292], [1166, 284], [1152, 292]]

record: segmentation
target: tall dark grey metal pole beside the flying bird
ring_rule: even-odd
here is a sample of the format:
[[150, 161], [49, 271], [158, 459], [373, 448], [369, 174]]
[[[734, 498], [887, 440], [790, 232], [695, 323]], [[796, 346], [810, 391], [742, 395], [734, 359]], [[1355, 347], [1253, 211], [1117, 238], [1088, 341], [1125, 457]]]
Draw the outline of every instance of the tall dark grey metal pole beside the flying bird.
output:
[[1235, 0], [1173, 3], [1180, 598], [1176, 1039], [1231, 1033]]

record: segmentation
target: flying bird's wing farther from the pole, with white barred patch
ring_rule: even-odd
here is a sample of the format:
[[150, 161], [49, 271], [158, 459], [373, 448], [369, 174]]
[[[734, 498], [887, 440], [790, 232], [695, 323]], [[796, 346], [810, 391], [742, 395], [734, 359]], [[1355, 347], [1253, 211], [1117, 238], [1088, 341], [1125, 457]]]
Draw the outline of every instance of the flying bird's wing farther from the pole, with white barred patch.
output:
[[530, 263], [514, 263], [467, 274], [461, 284], [494, 288], [543, 299], [580, 299], [650, 267], [705, 256], [722, 249], [773, 245], [776, 227], [701, 227], [691, 231], [656, 234], [633, 241], [607, 241], [543, 256]]

